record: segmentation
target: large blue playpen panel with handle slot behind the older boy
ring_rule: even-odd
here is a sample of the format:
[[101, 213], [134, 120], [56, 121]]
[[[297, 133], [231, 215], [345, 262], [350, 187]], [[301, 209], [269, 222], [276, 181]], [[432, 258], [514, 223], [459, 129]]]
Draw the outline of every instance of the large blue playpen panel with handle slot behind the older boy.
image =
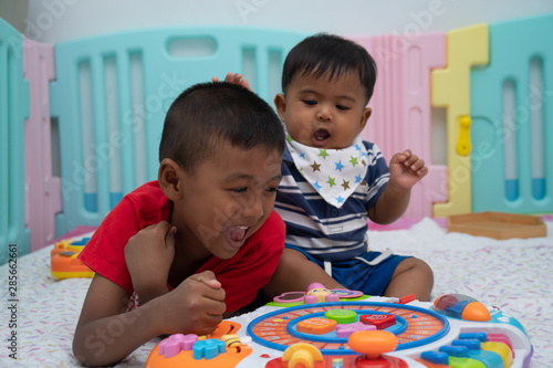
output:
[[50, 87], [61, 141], [56, 234], [100, 224], [125, 193], [157, 178], [165, 114], [185, 88], [240, 72], [272, 104], [284, 57], [306, 35], [173, 28], [56, 44]]

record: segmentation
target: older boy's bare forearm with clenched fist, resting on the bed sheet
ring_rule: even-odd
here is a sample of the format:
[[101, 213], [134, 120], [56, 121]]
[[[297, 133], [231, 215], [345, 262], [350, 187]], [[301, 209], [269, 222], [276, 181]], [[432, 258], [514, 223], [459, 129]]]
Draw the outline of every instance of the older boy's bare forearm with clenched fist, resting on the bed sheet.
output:
[[210, 271], [192, 275], [173, 292], [125, 312], [128, 292], [96, 274], [86, 294], [73, 354], [87, 366], [113, 365], [140, 345], [165, 334], [206, 335], [226, 309], [225, 291]]

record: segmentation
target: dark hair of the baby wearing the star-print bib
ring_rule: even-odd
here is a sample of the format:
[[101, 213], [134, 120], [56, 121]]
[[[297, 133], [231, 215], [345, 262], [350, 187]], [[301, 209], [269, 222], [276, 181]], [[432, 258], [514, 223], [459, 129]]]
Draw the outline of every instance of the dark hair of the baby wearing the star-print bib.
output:
[[325, 74], [328, 80], [346, 73], [359, 76], [366, 92], [366, 102], [373, 96], [376, 81], [376, 63], [368, 52], [357, 43], [338, 35], [317, 33], [304, 39], [288, 54], [282, 71], [282, 92], [285, 94], [293, 77]]

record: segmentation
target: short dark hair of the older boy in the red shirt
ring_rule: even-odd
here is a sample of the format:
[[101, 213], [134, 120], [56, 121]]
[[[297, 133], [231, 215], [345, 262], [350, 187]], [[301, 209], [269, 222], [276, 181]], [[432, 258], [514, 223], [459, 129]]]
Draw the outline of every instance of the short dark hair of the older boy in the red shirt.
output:
[[222, 140], [244, 150], [264, 146], [282, 154], [284, 139], [276, 113], [253, 92], [231, 83], [201, 83], [169, 107], [159, 161], [170, 158], [191, 172]]

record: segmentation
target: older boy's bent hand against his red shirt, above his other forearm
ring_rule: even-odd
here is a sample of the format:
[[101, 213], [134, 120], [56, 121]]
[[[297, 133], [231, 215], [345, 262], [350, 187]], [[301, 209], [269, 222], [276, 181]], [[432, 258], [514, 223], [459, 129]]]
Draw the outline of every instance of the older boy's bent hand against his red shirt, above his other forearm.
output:
[[167, 221], [143, 229], [128, 240], [125, 261], [142, 303], [167, 293], [167, 277], [175, 257], [177, 228]]

